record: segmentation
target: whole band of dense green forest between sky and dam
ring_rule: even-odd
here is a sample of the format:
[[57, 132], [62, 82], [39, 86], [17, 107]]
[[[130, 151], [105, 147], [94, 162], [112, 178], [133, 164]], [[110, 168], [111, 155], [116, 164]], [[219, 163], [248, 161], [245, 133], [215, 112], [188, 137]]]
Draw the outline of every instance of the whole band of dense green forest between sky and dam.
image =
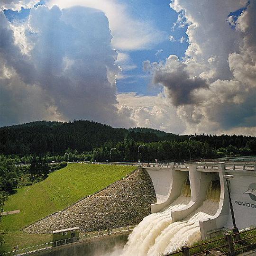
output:
[[[139, 145], [144, 146], [138, 152]], [[31, 162], [31, 155], [48, 157], [48, 162], [50, 159], [131, 162], [138, 158], [183, 161], [191, 157], [255, 155], [256, 137], [224, 134], [192, 137], [151, 128], [112, 128], [88, 120], [37, 121], [0, 128], [0, 154], [30, 159], [23, 162]]]

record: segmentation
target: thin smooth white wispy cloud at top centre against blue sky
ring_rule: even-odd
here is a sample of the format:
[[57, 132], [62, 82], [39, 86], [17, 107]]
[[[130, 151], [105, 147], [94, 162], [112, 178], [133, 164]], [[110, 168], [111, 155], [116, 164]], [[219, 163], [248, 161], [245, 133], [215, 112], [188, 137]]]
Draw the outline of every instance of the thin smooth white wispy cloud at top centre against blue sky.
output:
[[128, 8], [116, 0], [50, 0], [48, 5], [85, 6], [103, 11], [110, 22], [112, 46], [118, 50], [148, 49], [167, 38], [152, 22], [132, 17]]

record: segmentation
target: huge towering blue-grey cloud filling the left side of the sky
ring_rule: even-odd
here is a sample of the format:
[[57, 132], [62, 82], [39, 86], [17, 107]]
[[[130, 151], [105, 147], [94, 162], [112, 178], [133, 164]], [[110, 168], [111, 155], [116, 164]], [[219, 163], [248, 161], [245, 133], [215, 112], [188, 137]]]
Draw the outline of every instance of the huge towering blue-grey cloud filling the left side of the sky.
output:
[[[24, 33], [16, 28], [0, 13], [1, 126], [38, 119], [128, 122], [117, 107], [118, 53], [104, 13], [38, 6]], [[24, 38], [26, 51], [16, 37]]]

